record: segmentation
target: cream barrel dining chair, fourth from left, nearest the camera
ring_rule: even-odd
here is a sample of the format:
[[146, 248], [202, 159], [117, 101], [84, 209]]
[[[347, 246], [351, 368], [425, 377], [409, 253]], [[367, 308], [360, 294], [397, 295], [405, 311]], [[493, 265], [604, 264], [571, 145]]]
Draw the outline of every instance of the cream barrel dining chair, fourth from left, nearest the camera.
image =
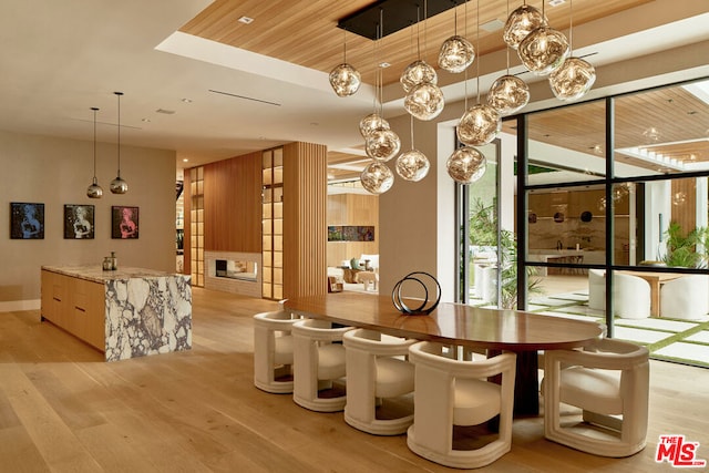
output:
[[[487, 465], [512, 448], [515, 353], [480, 360], [455, 359], [455, 347], [422, 341], [411, 346], [415, 366], [414, 419], [407, 444], [415, 454], [458, 469]], [[502, 374], [501, 384], [486, 381]], [[458, 450], [453, 426], [471, 426], [500, 415], [499, 433], [473, 450]]]

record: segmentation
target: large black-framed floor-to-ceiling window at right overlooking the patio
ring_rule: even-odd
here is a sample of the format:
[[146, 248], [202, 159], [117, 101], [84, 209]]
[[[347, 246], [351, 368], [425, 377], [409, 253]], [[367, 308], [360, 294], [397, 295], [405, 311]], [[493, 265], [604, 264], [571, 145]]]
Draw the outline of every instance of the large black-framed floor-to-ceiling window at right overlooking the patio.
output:
[[523, 304], [709, 366], [709, 81], [530, 113]]

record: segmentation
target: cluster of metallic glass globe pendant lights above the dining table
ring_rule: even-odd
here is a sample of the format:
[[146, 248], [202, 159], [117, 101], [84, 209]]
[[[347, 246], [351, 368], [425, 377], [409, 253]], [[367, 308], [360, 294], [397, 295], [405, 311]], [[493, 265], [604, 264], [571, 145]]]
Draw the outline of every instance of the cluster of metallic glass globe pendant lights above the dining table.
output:
[[[480, 0], [479, 0], [480, 2]], [[524, 66], [536, 75], [548, 75], [554, 95], [564, 101], [578, 100], [588, 92], [596, 74], [592, 64], [571, 56], [571, 44], [566, 37], [548, 27], [543, 11], [526, 2], [514, 10], [505, 23], [503, 39], [517, 51]], [[465, 71], [475, 59], [475, 50], [465, 38], [452, 35], [439, 51], [439, 66], [451, 73]], [[480, 75], [480, 73], [479, 73]], [[381, 72], [377, 75], [377, 94], [381, 89]], [[438, 86], [435, 69], [418, 59], [409, 64], [400, 78], [407, 93], [404, 109], [411, 115], [411, 150], [397, 158], [397, 173], [405, 181], [419, 182], [429, 172], [427, 156], [413, 144], [413, 117], [431, 121], [443, 111], [444, 97]], [[359, 72], [347, 61], [330, 73], [330, 84], [339, 96], [351, 95], [359, 90]], [[480, 89], [480, 88], [479, 88]], [[515, 75], [503, 75], [495, 80], [487, 93], [486, 103], [465, 110], [456, 127], [462, 147], [455, 150], [446, 161], [451, 178], [460, 184], [472, 184], [485, 173], [485, 156], [474, 146], [491, 143], [502, 131], [502, 117], [511, 115], [530, 101], [530, 89]], [[381, 104], [381, 101], [380, 101]], [[362, 186], [371, 194], [382, 194], [391, 188], [394, 176], [388, 161], [401, 150], [401, 140], [382, 117], [381, 109], [360, 121], [360, 133], [364, 138], [364, 151], [372, 158], [361, 173]]]

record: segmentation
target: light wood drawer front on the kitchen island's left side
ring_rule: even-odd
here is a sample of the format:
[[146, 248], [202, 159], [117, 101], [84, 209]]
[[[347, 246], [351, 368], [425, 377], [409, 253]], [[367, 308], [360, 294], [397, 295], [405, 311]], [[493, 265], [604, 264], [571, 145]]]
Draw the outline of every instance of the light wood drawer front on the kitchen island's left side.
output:
[[42, 318], [105, 351], [103, 284], [42, 270]]

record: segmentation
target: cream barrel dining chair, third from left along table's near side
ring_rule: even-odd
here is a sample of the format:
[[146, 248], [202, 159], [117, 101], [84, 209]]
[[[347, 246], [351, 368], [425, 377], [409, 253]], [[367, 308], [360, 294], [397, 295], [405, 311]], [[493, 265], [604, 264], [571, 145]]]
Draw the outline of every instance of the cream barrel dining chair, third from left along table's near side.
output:
[[[378, 435], [407, 432], [413, 422], [413, 402], [400, 402], [399, 415], [377, 418], [378, 408], [413, 392], [413, 364], [408, 361], [409, 347], [417, 342], [353, 329], [342, 338], [347, 360], [347, 404], [345, 421], [356, 429]], [[410, 404], [409, 409], [405, 404]]]

